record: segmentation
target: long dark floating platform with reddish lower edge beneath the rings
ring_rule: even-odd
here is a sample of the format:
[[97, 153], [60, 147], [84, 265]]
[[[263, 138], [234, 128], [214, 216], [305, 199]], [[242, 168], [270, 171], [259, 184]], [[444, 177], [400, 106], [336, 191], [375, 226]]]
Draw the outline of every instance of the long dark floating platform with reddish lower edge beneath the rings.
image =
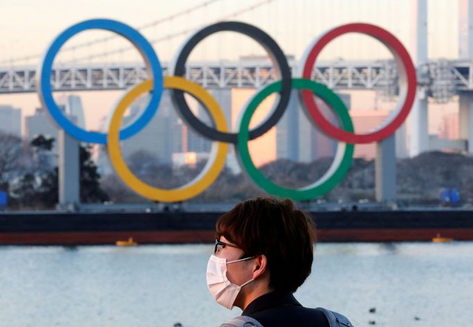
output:
[[[213, 242], [223, 212], [1, 212], [0, 245]], [[473, 240], [473, 211], [311, 212], [320, 242], [432, 242], [442, 235]]]

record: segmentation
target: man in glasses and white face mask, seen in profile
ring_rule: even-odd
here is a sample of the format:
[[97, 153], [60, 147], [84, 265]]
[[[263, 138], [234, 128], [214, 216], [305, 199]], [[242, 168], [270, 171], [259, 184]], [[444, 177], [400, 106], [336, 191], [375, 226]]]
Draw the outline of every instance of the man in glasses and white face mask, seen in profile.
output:
[[243, 310], [221, 326], [330, 326], [322, 310], [293, 296], [311, 273], [316, 227], [291, 200], [243, 201], [218, 219], [216, 235], [207, 286], [217, 303]]

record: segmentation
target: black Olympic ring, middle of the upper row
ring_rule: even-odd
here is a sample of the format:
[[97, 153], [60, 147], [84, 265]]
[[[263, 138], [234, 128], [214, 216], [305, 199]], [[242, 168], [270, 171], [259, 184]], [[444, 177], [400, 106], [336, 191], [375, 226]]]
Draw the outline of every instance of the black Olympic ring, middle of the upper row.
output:
[[[291, 69], [289, 68], [289, 64], [282, 49], [279, 48], [275, 40], [273, 40], [268, 34], [261, 31], [256, 26], [241, 22], [219, 22], [209, 25], [191, 35], [191, 37], [184, 42], [181, 51], [178, 53], [178, 56], [176, 56], [174, 63], [171, 66], [171, 72], [173, 72], [174, 76], [183, 77], [185, 74], [185, 64], [192, 49], [196, 47], [198, 42], [205, 39], [205, 37], [221, 31], [241, 33], [252, 37], [252, 39], [259, 42], [259, 44], [268, 51], [270, 59], [273, 61], [273, 65], [275, 66], [276, 74], [282, 80], [282, 89], [281, 92], [279, 92], [279, 99], [277, 100], [277, 105], [273, 107], [270, 117], [250, 131], [249, 138], [250, 140], [253, 140], [256, 137], [263, 135], [277, 124], [277, 121], [279, 121], [284, 114], [284, 110], [286, 110], [289, 98], [291, 97]], [[217, 131], [216, 129], [207, 126], [193, 115], [184, 99], [184, 92], [180, 90], [171, 90], [171, 99], [175, 108], [178, 110], [180, 117], [186, 121], [194, 131], [210, 140], [236, 144], [238, 139], [237, 133], [223, 133]]]

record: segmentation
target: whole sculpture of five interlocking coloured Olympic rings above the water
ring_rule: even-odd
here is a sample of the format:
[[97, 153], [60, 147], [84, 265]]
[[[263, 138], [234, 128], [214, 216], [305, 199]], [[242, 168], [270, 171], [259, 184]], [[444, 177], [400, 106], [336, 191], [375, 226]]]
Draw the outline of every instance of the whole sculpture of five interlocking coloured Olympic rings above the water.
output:
[[[51, 89], [51, 72], [53, 60], [67, 40], [74, 35], [89, 29], [102, 29], [122, 35], [129, 40], [141, 53], [146, 63], [148, 76], [151, 78], [132, 87], [119, 101], [110, 121], [107, 134], [94, 131], [85, 131], [83, 128], [72, 123], [60, 110], [55, 103]], [[246, 103], [245, 108], [241, 110], [242, 115], [239, 119], [239, 132], [229, 133], [227, 121], [223, 110], [215, 99], [200, 85], [185, 79], [185, 62], [189, 58], [192, 49], [196, 47], [205, 37], [220, 31], [233, 31], [252, 37], [259, 42], [268, 52], [268, 56], [273, 61], [275, 67], [275, 76], [278, 81], [261, 87], [260, 90]], [[354, 128], [350, 115], [345, 104], [332, 90], [325, 85], [312, 81], [313, 67], [316, 65], [317, 57], [322, 49], [336, 37], [345, 33], [362, 33], [374, 37], [383, 43], [393, 54], [399, 70], [399, 102], [397, 104], [395, 115], [388, 119], [383, 125], [375, 131], [366, 134], [354, 133]], [[38, 94], [44, 108], [48, 109], [51, 119], [57, 124], [58, 128], [63, 128], [71, 136], [82, 142], [107, 144], [108, 152], [112, 166], [123, 182], [132, 190], [154, 201], [177, 202], [192, 198], [203, 192], [209, 185], [212, 185], [218, 174], [220, 174], [227, 155], [228, 144], [234, 144], [236, 153], [243, 169], [248, 172], [252, 181], [268, 194], [274, 196], [289, 197], [291, 199], [302, 201], [315, 199], [318, 196], [326, 194], [334, 188], [347, 174], [352, 163], [354, 144], [381, 142], [402, 125], [408, 113], [411, 110], [415, 99], [417, 81], [415, 67], [401, 42], [397, 38], [375, 25], [354, 23], [345, 24], [332, 28], [316, 38], [309, 45], [300, 62], [300, 78], [291, 76], [291, 69], [284, 56], [284, 52], [277, 43], [268, 34], [256, 26], [242, 22], [219, 22], [206, 26], [189, 37], [182, 48], [175, 56], [171, 65], [170, 72], [173, 76], [162, 76], [162, 67], [157, 54], [151, 44], [134, 28], [111, 19], [90, 19], [85, 22], [75, 24], [60, 33], [53, 40], [51, 46], [46, 51], [42, 65], [38, 69], [37, 85]], [[126, 140], [138, 133], [153, 118], [160, 103], [164, 88], [171, 89], [171, 99], [175, 110], [182, 119], [207, 139], [214, 141], [210, 158], [203, 171], [182, 187], [172, 190], [164, 190], [153, 187], [139, 180], [127, 167], [120, 151], [120, 140]], [[300, 90], [300, 103], [307, 115], [309, 121], [314, 127], [338, 141], [337, 151], [327, 172], [319, 178], [318, 181], [301, 187], [299, 189], [289, 189], [282, 187], [270, 181], [264, 174], [255, 167], [248, 150], [248, 141], [253, 140], [270, 130], [284, 114], [284, 110], [289, 103], [292, 89]], [[141, 113], [141, 116], [127, 126], [120, 128], [123, 114], [130, 104], [141, 94], [149, 92], [151, 94], [148, 106]], [[196, 98], [209, 112], [214, 121], [215, 128], [209, 127], [200, 121], [191, 112], [184, 99], [184, 92], [191, 94]], [[259, 126], [250, 131], [249, 125], [252, 115], [259, 104], [270, 94], [277, 93], [277, 99], [269, 117]], [[341, 127], [334, 126], [320, 112], [313, 96], [316, 95], [322, 99], [334, 112]]]

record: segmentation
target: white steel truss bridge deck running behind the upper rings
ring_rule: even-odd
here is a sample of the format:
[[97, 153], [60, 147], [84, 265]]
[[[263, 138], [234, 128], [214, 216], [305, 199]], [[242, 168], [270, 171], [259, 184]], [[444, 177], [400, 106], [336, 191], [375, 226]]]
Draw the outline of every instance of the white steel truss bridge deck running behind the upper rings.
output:
[[[293, 76], [298, 65], [289, 60]], [[164, 75], [171, 75], [168, 64]], [[398, 73], [394, 60], [320, 62], [312, 79], [334, 90], [377, 90], [393, 99], [398, 92]], [[140, 63], [96, 65], [58, 65], [51, 85], [55, 91], [125, 90], [148, 78]], [[187, 65], [186, 78], [208, 89], [259, 88], [275, 81], [268, 60], [238, 62], [193, 62]], [[424, 94], [438, 103], [451, 101], [456, 94], [473, 91], [473, 61], [432, 60], [418, 67], [418, 83]], [[35, 67], [0, 67], [0, 94], [36, 92]]]

